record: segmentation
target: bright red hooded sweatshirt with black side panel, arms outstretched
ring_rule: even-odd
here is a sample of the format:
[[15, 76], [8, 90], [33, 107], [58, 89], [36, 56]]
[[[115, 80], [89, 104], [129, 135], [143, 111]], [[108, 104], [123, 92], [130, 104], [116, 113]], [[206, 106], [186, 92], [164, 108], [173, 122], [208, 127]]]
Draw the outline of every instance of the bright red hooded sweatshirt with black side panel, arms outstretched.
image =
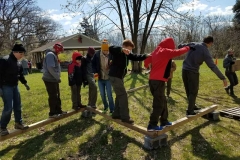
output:
[[180, 56], [189, 51], [189, 47], [175, 49], [173, 38], [166, 38], [159, 43], [151, 55], [145, 59], [146, 68], [151, 64], [150, 80], [161, 80], [167, 82], [170, 76], [172, 58]]

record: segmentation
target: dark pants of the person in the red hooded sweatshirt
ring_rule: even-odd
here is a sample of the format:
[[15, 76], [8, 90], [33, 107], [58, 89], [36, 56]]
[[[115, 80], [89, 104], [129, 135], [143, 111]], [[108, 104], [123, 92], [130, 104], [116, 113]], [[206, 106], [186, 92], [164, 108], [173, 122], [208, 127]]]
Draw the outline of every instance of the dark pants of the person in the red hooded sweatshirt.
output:
[[165, 82], [159, 80], [149, 80], [150, 91], [153, 95], [153, 111], [150, 115], [149, 124], [156, 126], [158, 121], [165, 125], [168, 120], [167, 100], [165, 96]]

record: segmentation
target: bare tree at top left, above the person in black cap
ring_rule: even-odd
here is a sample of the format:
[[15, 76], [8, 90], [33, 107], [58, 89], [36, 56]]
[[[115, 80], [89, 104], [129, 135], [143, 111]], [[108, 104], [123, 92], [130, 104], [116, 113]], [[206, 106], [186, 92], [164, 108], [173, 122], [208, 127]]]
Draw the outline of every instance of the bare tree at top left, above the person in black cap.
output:
[[34, 0], [1, 0], [1, 54], [7, 54], [16, 40], [21, 40], [28, 49], [36, 46], [33, 43], [47, 43], [56, 38], [53, 35], [57, 26], [54, 21], [44, 17]]

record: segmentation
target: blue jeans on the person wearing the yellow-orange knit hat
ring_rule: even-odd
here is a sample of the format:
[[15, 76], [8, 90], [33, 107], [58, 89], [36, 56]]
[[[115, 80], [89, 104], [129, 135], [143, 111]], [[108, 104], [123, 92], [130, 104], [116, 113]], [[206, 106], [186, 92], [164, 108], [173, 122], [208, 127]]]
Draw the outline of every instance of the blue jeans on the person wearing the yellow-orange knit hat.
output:
[[[114, 103], [113, 103], [112, 86], [111, 86], [110, 80], [99, 79], [98, 80], [98, 87], [99, 87], [100, 95], [101, 95], [101, 98], [102, 98], [102, 101], [103, 101], [104, 110], [108, 109], [108, 106], [109, 106], [110, 112], [113, 112]], [[107, 91], [107, 97], [108, 97], [109, 104], [108, 104], [107, 99], [106, 99], [106, 91]]]

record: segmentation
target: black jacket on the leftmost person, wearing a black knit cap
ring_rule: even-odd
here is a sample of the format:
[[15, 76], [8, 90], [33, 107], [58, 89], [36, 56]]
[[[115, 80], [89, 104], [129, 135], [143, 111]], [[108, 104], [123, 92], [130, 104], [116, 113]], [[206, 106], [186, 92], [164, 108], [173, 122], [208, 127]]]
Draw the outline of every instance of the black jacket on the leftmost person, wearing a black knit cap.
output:
[[16, 86], [18, 80], [22, 84], [26, 84], [27, 81], [23, 76], [23, 68], [17, 58], [10, 53], [9, 56], [0, 59], [0, 87], [3, 85]]

